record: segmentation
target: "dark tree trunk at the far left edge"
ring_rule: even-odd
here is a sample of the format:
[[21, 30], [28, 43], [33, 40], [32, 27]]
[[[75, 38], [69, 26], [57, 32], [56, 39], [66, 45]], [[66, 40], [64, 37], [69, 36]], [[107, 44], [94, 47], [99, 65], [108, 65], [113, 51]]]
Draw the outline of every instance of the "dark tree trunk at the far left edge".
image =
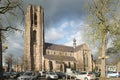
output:
[[3, 66], [2, 66], [2, 39], [1, 39], [1, 30], [0, 30], [0, 80], [3, 80]]

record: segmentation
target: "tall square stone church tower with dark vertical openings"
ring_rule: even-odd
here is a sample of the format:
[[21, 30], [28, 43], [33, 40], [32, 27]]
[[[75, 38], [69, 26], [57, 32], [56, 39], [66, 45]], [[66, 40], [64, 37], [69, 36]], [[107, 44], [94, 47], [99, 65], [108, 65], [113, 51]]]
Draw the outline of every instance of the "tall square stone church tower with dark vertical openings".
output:
[[44, 11], [41, 6], [29, 5], [26, 12], [24, 69], [43, 70]]

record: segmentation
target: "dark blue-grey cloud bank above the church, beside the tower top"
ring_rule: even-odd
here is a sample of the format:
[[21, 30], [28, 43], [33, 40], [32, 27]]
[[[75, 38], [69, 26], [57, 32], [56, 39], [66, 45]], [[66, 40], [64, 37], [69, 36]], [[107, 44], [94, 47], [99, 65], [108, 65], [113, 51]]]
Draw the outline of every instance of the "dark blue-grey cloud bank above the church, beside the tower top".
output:
[[[45, 27], [63, 19], [83, 19], [86, 0], [25, 0], [25, 5], [41, 5], [44, 8]], [[27, 6], [26, 6], [27, 7]]]

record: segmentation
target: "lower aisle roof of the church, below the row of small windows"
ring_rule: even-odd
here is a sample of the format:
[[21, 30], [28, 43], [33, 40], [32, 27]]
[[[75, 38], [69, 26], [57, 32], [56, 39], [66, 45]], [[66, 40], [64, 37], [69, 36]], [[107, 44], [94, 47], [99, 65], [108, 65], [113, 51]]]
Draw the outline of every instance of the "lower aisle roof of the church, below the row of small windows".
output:
[[58, 56], [58, 55], [44, 55], [44, 58], [49, 60], [56, 60], [56, 61], [76, 61], [74, 57], [71, 56]]

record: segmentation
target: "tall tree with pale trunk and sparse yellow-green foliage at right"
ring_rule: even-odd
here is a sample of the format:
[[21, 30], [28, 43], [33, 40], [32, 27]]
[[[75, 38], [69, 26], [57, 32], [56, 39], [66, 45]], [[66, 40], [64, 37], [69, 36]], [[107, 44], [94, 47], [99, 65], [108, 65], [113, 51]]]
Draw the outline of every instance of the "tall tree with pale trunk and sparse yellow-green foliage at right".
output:
[[[101, 77], [105, 77], [105, 58], [107, 42], [113, 36], [109, 36], [115, 30], [119, 29], [119, 17], [116, 17], [116, 11], [119, 8], [119, 0], [89, 0], [89, 27], [87, 31], [99, 48], [101, 53]], [[119, 33], [119, 32], [117, 32]]]

